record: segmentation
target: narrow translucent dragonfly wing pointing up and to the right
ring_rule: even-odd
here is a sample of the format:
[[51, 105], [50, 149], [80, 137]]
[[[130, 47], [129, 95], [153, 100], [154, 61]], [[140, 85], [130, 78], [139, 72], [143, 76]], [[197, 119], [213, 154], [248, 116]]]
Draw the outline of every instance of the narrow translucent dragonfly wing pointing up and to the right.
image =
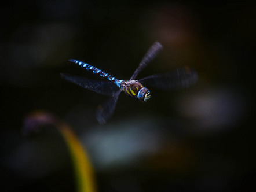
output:
[[134, 80], [138, 73], [140, 73], [148, 64], [155, 58], [160, 51], [163, 50], [163, 46], [159, 42], [155, 42], [147, 51], [145, 56], [142, 58], [140, 64], [138, 65], [138, 68], [133, 73], [133, 76], [131, 76], [130, 80]]

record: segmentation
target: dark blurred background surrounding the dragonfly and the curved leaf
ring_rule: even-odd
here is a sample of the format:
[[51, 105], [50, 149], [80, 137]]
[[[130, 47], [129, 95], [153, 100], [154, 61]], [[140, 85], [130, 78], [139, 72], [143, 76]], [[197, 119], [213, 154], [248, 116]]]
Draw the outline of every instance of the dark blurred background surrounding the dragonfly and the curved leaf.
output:
[[[24, 136], [24, 118], [45, 110], [87, 149], [98, 191], [241, 191], [255, 188], [255, 3], [196, 1], [5, 1], [1, 5], [1, 191], [75, 191], [60, 133]], [[100, 79], [68, 61], [129, 79], [158, 40], [164, 49], [138, 75], [189, 65], [195, 86], [151, 87], [147, 104], [108, 97], [60, 73]]]

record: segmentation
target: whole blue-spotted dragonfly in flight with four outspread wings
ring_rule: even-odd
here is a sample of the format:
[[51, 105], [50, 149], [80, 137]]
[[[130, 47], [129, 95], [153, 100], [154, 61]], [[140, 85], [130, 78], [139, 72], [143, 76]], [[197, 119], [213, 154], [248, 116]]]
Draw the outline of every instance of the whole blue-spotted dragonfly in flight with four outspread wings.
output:
[[158, 73], [135, 80], [137, 75], [149, 64], [149, 62], [158, 56], [162, 50], [163, 46], [159, 42], [153, 43], [145, 53], [133, 75], [130, 77], [130, 80], [116, 79], [101, 69], [74, 59], [70, 59], [69, 61], [74, 62], [87, 71], [91, 71], [101, 77], [104, 77], [108, 81], [87, 79], [85, 77], [68, 75], [65, 73], [61, 73], [61, 77], [72, 83], [78, 84], [83, 88], [111, 97], [106, 102], [99, 105], [96, 110], [96, 118], [98, 122], [100, 124], [104, 124], [113, 115], [116, 108], [116, 102], [118, 101], [119, 95], [122, 91], [137, 101], [147, 102], [151, 98], [151, 92], [144, 86], [144, 84], [159, 89], [171, 90], [175, 88], [185, 88], [196, 83], [198, 80], [197, 72], [195, 69], [188, 66], [176, 69], [175, 71]]

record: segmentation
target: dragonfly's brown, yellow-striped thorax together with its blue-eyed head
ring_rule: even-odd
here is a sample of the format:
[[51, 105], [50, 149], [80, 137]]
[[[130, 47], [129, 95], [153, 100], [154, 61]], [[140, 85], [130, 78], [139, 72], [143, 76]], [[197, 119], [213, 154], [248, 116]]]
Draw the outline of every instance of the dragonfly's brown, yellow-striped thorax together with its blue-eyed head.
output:
[[137, 80], [124, 81], [122, 90], [130, 97], [140, 100], [142, 102], [148, 101], [151, 94], [148, 88], [142, 86]]

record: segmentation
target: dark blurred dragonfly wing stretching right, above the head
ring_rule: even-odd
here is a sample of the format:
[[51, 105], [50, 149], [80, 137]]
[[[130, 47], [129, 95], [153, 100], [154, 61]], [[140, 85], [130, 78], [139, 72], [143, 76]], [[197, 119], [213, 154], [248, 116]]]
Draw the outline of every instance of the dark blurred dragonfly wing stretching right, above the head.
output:
[[198, 80], [198, 73], [190, 67], [176, 69], [169, 73], [159, 73], [138, 80], [142, 84], [159, 89], [185, 88], [195, 84]]

